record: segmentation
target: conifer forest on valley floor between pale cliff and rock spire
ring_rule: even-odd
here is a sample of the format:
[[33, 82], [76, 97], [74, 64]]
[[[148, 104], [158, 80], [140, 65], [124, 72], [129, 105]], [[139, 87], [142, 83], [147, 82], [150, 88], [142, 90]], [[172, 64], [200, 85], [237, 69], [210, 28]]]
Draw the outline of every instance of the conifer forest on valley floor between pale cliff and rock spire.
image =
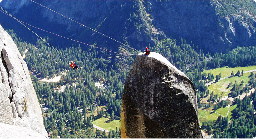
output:
[[[65, 59], [43, 44], [42, 40], [38, 40], [35, 47], [19, 40], [13, 31], [8, 32], [19, 46], [19, 50], [26, 47], [29, 49], [25, 61], [30, 70], [35, 71], [35, 74], [39, 73], [38, 77], [51, 77], [68, 70], [66, 76], [61, 77], [58, 83], [40, 82], [37, 77], [31, 75], [37, 97], [44, 110], [42, 114], [46, 130], [53, 132], [52, 137], [106, 138], [104, 133], [102, 135], [97, 135], [99, 132], [93, 133], [92, 121], [104, 116], [110, 118], [110, 121], [120, 120], [122, 81], [125, 80], [127, 72], [116, 73], [115, 70], [110, 70], [114, 65], [109, 64], [110, 60], [104, 59], [76, 63], [83, 68], [70, 70]], [[21, 53], [23, 54], [22, 51]], [[83, 57], [99, 58], [96, 56], [98, 52], [92, 48], [89, 48], [88, 52], [82, 52], [80, 47], [70, 47], [62, 53], [77, 56], [77, 61], [83, 60], [81, 59]], [[95, 82], [100, 81], [104, 81], [107, 89], [95, 86]], [[61, 90], [62, 87], [64, 87], [63, 90]], [[107, 106], [107, 109], [102, 109], [96, 116], [93, 115], [97, 106], [102, 105]], [[119, 132], [120, 129], [113, 131], [111, 136], [120, 138]]]

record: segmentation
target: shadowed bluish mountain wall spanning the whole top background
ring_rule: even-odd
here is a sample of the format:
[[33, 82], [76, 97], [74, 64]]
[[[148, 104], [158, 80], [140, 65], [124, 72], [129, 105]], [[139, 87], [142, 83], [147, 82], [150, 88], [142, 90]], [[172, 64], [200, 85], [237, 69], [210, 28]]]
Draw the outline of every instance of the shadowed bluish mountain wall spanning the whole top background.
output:
[[[143, 49], [144, 46], [154, 47], [157, 41], [166, 37], [185, 38], [205, 52], [225, 52], [229, 47], [255, 45], [255, 1], [39, 3], [136, 49]], [[235, 7], [235, 4], [238, 6]], [[68, 34], [67, 37], [90, 44], [97, 42], [101, 47], [110, 49], [116, 49], [120, 45], [31, 1], [1, 1], [1, 6], [11, 11], [18, 19], [33, 25], [36, 23], [37, 27], [50, 29], [60, 35]], [[254, 9], [250, 6], [254, 6]], [[1, 13], [1, 17], [6, 16]], [[2, 20], [1, 24], [10, 28]]]

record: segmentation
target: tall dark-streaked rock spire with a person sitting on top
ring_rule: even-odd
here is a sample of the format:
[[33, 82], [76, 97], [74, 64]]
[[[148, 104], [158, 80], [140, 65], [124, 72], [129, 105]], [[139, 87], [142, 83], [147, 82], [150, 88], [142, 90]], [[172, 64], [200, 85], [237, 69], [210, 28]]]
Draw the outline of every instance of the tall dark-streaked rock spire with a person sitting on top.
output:
[[192, 81], [158, 53], [137, 55], [122, 96], [121, 138], [205, 138]]

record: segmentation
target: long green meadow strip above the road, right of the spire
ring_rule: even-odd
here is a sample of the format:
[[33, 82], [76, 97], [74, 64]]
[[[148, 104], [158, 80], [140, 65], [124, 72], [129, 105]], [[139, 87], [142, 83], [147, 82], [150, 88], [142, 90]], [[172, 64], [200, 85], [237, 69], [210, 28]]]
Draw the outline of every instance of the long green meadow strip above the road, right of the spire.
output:
[[230, 68], [230, 67], [222, 67], [222, 68], [215, 68], [215, 69], [211, 69], [211, 70], [204, 70], [202, 73], [206, 73], [208, 75], [208, 73], [211, 72], [211, 74], [214, 75], [214, 77], [216, 77], [216, 75], [219, 75], [221, 73], [221, 77], [226, 77], [229, 76], [231, 74], [231, 72], [233, 71], [234, 74], [237, 73], [238, 70], [240, 70], [240, 72], [242, 72], [242, 70], [245, 71], [250, 71], [250, 70], [255, 70], [256, 66], [248, 66], [248, 67], [235, 67], [235, 68]]

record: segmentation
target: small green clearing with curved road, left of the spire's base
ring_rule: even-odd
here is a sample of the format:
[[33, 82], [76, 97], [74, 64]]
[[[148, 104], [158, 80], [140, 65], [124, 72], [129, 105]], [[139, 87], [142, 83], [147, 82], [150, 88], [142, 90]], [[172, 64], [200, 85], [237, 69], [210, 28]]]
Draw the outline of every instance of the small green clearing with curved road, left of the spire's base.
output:
[[107, 117], [107, 118], [100, 118], [100, 119], [97, 119], [95, 121], [92, 121], [92, 123], [96, 126], [99, 126], [101, 128], [104, 128], [106, 130], [109, 130], [112, 129], [112, 130], [116, 130], [116, 127], [117, 129], [119, 130], [119, 127], [121, 125], [121, 120], [113, 120], [111, 122], [108, 122], [107, 121], [110, 119], [111, 117]]

